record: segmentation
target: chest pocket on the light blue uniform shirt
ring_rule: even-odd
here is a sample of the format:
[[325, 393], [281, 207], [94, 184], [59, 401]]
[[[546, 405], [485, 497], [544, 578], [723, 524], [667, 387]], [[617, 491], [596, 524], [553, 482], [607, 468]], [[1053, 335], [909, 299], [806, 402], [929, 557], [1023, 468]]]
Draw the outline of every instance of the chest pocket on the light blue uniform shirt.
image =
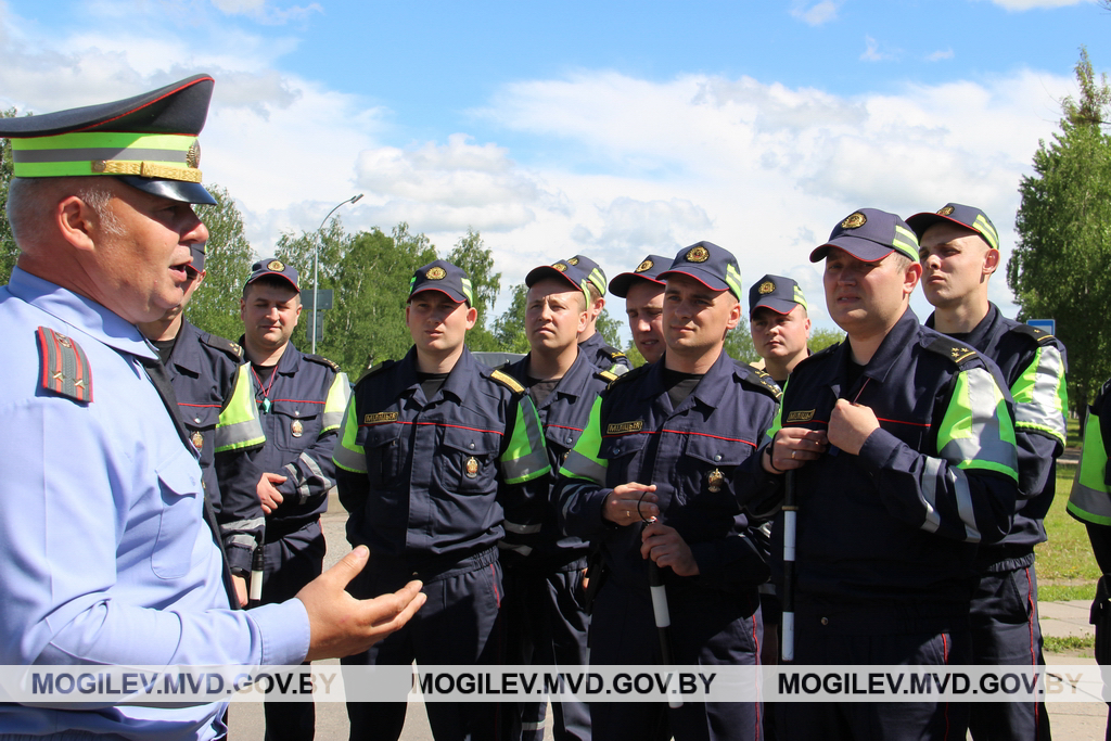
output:
[[207, 529], [201, 523], [200, 469], [184, 448], [159, 467], [158, 487], [162, 508], [150, 565], [159, 579], [181, 579], [189, 573], [200, 529]]

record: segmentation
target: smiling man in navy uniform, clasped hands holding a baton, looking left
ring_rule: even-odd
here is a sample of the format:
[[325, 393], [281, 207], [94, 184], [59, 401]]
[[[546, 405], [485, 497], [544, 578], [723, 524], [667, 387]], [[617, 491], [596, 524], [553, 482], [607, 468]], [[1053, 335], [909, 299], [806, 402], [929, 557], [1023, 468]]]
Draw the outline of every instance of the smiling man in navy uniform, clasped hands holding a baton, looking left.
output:
[[[663, 360], [614, 381], [567, 457], [557, 501], [567, 532], [600, 544], [608, 577], [590, 623], [592, 664], [660, 663], [649, 592], [662, 572], [675, 664], [755, 664], [757, 585], [768, 567], [738, 514], [779, 389], [724, 352], [741, 320], [737, 260], [711, 242], [680, 250], [663, 299]], [[598, 739], [759, 739], [754, 702], [595, 702]]]

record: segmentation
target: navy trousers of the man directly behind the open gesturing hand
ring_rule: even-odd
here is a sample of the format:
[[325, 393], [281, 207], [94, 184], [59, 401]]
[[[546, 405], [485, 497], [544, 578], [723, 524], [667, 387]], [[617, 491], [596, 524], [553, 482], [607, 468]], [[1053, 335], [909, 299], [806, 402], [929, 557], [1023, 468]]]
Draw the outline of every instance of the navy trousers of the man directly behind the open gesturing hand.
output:
[[[348, 588], [367, 599], [401, 589], [413, 570], [378, 559]], [[344, 665], [404, 667], [454, 664], [481, 667], [502, 663], [499, 611], [502, 595], [498, 549], [491, 548], [432, 573], [417, 572], [428, 595], [424, 605], [406, 624], [368, 651], [340, 660]], [[348, 702], [351, 741], [398, 739], [406, 722], [404, 702]], [[429, 725], [437, 741], [482, 741], [497, 738], [498, 711], [493, 702], [429, 702]]]

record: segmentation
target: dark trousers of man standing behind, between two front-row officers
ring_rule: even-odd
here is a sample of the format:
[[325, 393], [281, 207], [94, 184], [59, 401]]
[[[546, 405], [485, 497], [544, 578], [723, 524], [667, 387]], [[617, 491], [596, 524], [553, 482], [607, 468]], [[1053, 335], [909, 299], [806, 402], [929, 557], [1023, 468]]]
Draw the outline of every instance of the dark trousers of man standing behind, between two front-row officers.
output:
[[[585, 563], [582, 564], [585, 568]], [[582, 569], [537, 571], [528, 564], [506, 569], [506, 663], [584, 667], [587, 627]], [[544, 738], [544, 700], [507, 705], [502, 711], [503, 741]], [[552, 738], [589, 741], [590, 709], [581, 701], [552, 700]]]

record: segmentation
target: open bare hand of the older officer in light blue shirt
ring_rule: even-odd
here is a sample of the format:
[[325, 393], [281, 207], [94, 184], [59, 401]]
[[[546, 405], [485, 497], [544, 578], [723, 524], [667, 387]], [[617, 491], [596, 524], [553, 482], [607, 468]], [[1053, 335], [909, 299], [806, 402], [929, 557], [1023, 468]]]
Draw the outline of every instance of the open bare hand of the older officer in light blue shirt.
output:
[[357, 600], [344, 591], [369, 558], [370, 551], [360, 545], [297, 593], [309, 613], [306, 661], [366, 651], [409, 622], [424, 604], [428, 598], [420, 591], [423, 584], [419, 581], [370, 600]]

